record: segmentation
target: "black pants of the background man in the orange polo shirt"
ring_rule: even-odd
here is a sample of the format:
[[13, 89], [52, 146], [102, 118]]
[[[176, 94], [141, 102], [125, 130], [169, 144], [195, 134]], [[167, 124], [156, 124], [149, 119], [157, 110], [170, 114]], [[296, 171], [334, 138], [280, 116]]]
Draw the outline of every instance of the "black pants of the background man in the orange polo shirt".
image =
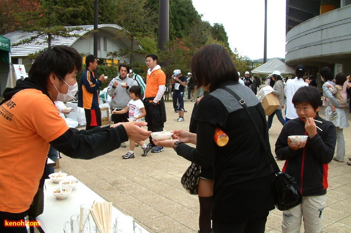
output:
[[[163, 123], [161, 119], [161, 109], [159, 104], [148, 104], [145, 106], [145, 121], [147, 122], [147, 130], [152, 132], [158, 132], [163, 130]], [[152, 141], [152, 137], [149, 136], [149, 140], [152, 146], [155, 144]]]

